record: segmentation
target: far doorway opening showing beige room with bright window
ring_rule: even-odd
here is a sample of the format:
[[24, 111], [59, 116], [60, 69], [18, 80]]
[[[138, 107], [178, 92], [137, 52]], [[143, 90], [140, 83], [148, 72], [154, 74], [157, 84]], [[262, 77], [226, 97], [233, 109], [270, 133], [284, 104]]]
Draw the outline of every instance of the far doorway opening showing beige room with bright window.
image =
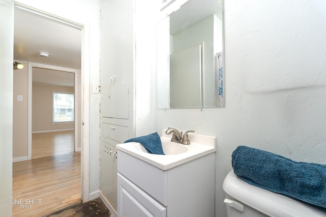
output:
[[33, 159], [80, 151], [80, 129], [74, 127], [80, 117], [75, 77], [78, 73], [32, 66]]

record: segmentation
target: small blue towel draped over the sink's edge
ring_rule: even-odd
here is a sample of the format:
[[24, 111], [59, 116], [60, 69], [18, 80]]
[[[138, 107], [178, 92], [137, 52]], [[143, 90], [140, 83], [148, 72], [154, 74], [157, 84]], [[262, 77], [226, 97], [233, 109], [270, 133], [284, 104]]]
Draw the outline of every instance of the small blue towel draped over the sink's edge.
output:
[[126, 140], [124, 143], [128, 142], [138, 142], [142, 144], [148, 153], [151, 154], [164, 154], [162, 149], [161, 138], [157, 132], [154, 132], [149, 135], [143, 135], [142, 137], [136, 137], [129, 140]]

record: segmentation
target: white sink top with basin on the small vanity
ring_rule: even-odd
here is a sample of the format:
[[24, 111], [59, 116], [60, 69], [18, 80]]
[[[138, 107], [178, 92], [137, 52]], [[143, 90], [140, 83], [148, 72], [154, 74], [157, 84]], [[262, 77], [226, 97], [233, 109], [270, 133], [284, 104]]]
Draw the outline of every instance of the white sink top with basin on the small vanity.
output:
[[171, 142], [172, 133], [167, 135], [165, 131], [162, 130], [161, 143], [166, 155], [150, 154], [140, 143], [130, 142], [116, 145], [118, 156], [119, 151], [123, 151], [161, 170], [168, 170], [216, 151], [215, 137], [188, 133], [191, 144], [182, 145]]

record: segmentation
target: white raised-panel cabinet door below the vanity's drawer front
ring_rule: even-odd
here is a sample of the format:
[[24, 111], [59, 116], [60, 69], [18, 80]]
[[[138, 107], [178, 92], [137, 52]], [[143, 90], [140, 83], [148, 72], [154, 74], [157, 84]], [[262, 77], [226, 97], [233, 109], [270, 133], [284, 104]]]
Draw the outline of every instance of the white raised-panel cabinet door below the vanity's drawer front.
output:
[[167, 209], [141, 188], [118, 173], [119, 217], [159, 216], [166, 217]]

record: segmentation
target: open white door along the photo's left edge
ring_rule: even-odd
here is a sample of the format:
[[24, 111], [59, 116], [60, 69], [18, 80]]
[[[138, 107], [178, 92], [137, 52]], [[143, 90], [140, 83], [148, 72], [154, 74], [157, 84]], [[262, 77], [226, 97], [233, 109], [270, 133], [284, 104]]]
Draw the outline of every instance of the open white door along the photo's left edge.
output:
[[14, 57], [14, 2], [0, 0], [0, 210], [12, 215], [12, 103]]

